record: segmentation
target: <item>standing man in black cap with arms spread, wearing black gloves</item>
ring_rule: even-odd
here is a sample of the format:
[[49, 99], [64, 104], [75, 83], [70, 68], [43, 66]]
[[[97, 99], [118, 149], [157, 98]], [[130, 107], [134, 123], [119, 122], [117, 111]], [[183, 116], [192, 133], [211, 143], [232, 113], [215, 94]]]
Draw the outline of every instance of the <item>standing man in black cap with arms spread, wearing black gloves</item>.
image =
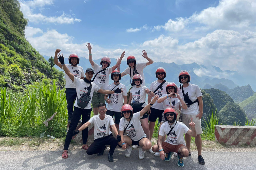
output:
[[[99, 88], [95, 83], [91, 82], [91, 79], [94, 74], [94, 70], [92, 68], [86, 69], [85, 78], [83, 80], [75, 77], [73, 74], [70, 73], [69, 69], [65, 65], [63, 55], [59, 55], [58, 59], [59, 59], [60, 63], [62, 64], [62, 67], [63, 67], [65, 73], [69, 76], [69, 78], [74, 82], [74, 84], [76, 86], [77, 100], [81, 96], [83, 96], [84, 93], [88, 93], [90, 86], [91, 86], [91, 93], [90, 93], [91, 98], [92, 98], [94, 91], [96, 91], [96, 92], [98, 91], [103, 94], [113, 94], [113, 93], [122, 93], [123, 92], [123, 89], [119, 89], [119, 88], [114, 91], [103, 90], [103, 89]], [[69, 130], [67, 132], [66, 139], [65, 139], [64, 151], [62, 153], [62, 158], [64, 158], [64, 159], [68, 158], [67, 150], [69, 148], [69, 144], [70, 144], [70, 141], [73, 136], [72, 135], [73, 131], [76, 129], [81, 115], [82, 115], [82, 124], [84, 124], [85, 122], [87, 122], [90, 119], [91, 111], [92, 111], [91, 100], [88, 102], [88, 104], [85, 108], [79, 107], [77, 102], [75, 102], [74, 112], [72, 115]], [[86, 144], [87, 138], [88, 138], [88, 128], [86, 128], [82, 131], [82, 139], [83, 139], [82, 149], [85, 149], [85, 150], [88, 149], [88, 145]]]

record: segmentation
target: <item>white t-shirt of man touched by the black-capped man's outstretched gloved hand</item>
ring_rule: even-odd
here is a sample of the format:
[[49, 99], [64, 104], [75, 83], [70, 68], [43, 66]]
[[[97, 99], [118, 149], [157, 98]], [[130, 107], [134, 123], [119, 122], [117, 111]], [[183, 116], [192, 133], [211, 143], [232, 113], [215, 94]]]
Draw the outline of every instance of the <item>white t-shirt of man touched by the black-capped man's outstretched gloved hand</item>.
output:
[[[114, 88], [114, 89], [113, 89]], [[123, 88], [123, 93], [113, 93], [110, 95], [110, 101], [111, 103], [108, 104], [108, 110], [114, 111], [114, 112], [121, 112], [121, 108], [124, 105], [123, 96], [127, 96], [126, 92], [126, 86], [122, 83], [119, 83], [117, 86], [116, 84], [112, 83], [108, 85], [107, 90], [116, 90], [117, 88], [121, 89]]]

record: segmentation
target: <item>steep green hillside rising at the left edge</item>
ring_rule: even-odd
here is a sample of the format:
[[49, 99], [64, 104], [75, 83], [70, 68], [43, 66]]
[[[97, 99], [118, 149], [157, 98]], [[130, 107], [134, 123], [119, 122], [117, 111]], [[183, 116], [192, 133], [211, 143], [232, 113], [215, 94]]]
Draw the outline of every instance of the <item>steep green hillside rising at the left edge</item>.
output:
[[56, 78], [64, 85], [64, 74], [51, 67], [24, 37], [27, 19], [18, 0], [0, 0], [0, 87], [23, 90], [26, 85]]

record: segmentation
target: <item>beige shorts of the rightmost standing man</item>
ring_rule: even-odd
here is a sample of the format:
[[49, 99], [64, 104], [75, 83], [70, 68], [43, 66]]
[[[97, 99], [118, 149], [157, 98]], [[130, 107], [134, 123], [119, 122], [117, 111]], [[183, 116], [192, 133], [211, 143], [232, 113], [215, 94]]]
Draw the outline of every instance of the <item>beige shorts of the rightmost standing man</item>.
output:
[[196, 124], [195, 129], [196, 129], [196, 134], [202, 134], [203, 130], [201, 127], [201, 119], [199, 119], [198, 117], [196, 118], [196, 115], [186, 115], [181, 113], [182, 115], [182, 123], [184, 123], [189, 129], [191, 129], [191, 127], [189, 126], [190, 122], [191, 122], [191, 118], [193, 118], [193, 122]]

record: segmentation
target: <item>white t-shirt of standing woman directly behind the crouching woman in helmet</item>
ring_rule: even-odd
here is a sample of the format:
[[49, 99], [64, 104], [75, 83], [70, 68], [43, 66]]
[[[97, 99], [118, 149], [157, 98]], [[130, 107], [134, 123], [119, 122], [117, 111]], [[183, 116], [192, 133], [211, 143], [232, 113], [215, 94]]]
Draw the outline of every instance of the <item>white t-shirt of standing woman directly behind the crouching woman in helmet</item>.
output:
[[[146, 101], [147, 93], [145, 92], [145, 89], [147, 89], [146, 86], [140, 86], [139, 88], [135, 86], [130, 90], [130, 95], [132, 95], [131, 104], [133, 101], [135, 101], [135, 103], [143, 103]], [[142, 107], [145, 106], [147, 106], [146, 102], [142, 105]]]

